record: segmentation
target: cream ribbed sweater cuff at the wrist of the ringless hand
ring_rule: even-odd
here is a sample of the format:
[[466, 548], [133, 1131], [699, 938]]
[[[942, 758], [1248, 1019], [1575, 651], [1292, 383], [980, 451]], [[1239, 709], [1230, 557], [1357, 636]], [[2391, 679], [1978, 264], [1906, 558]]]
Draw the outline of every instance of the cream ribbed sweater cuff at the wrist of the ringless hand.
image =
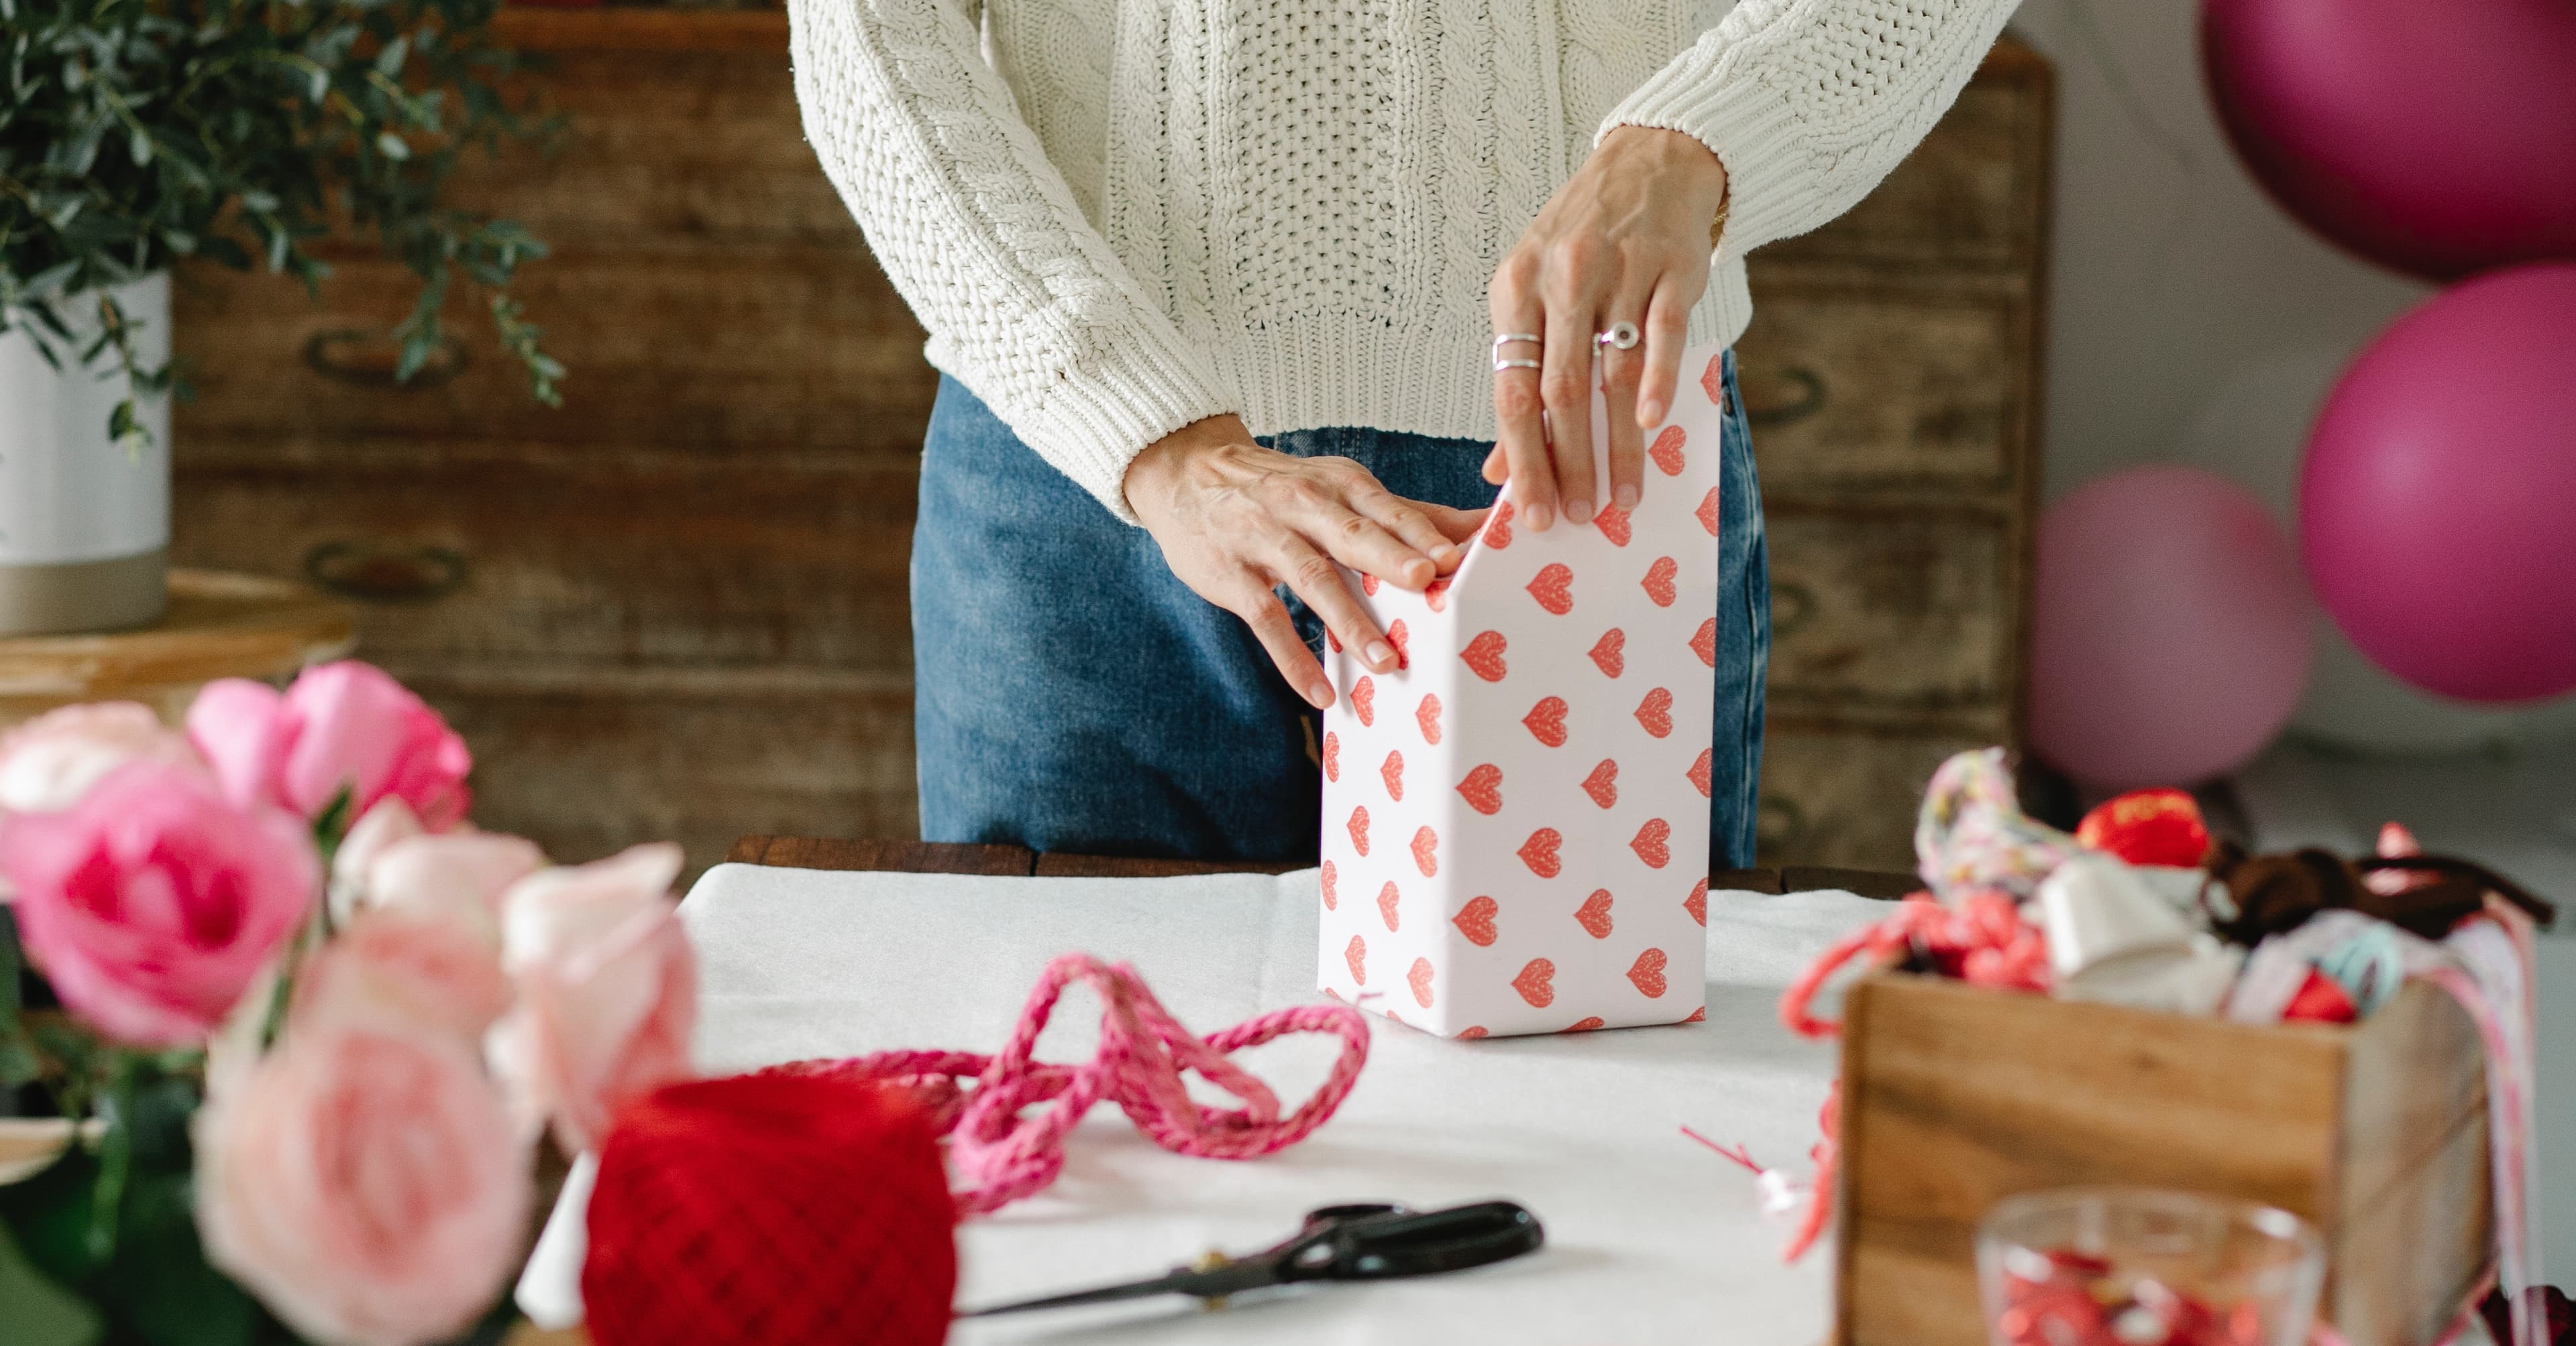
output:
[[1180, 345], [1170, 319], [1141, 314], [1123, 340], [1097, 342], [1090, 358], [1064, 368], [1028, 422], [1012, 430], [1121, 522], [1136, 522], [1126, 468], [1144, 445], [1239, 409], [1242, 399], [1224, 391], [1203, 355]]

